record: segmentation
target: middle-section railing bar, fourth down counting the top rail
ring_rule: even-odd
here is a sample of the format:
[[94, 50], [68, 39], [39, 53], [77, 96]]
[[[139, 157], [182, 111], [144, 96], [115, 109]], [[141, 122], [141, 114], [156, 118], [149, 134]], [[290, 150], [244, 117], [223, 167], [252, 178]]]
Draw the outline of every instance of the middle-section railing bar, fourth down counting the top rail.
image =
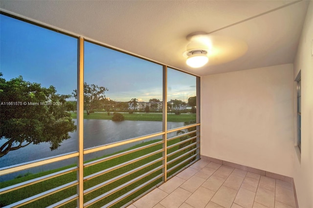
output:
[[132, 174], [132, 173], [135, 173], [135, 172], [138, 171], [138, 170], [141, 170], [141, 169], [143, 169], [143, 168], [145, 168], [145, 167], [151, 166], [151, 165], [153, 165], [153, 164], [155, 164], [155, 163], [157, 163], [157, 162], [159, 162], [159, 161], [162, 161], [162, 160], [163, 160], [163, 157], [158, 158], [158, 159], [156, 159], [156, 160], [154, 160], [154, 161], [151, 161], [150, 163], [144, 164], [144, 165], [139, 166], [139, 167], [137, 167], [137, 168], [135, 168], [135, 169], [132, 169], [132, 170], [130, 170], [130, 171], [127, 171], [126, 173], [123, 173], [123, 174], [121, 174], [121, 175], [118, 175], [118, 176], [116, 176], [116, 177], [114, 177], [114, 178], [112, 178], [112, 179], [110, 179], [110, 180], [108, 180], [108, 181], [105, 181], [105, 182], [101, 183], [101, 184], [98, 184], [98, 185], [96, 185], [96, 186], [90, 187], [90, 188], [88, 188], [88, 189], [86, 189], [86, 190], [84, 191], [84, 195], [89, 194], [89, 193], [91, 193], [92, 191], [95, 191], [95, 190], [97, 190], [97, 189], [99, 189], [99, 188], [101, 188], [101, 187], [105, 187], [105, 186], [107, 186], [107, 185], [109, 185], [109, 184], [111, 184], [111, 183], [113, 183], [113, 182], [115, 182], [115, 181], [117, 181], [117, 180], [119, 180], [119, 179], [122, 179], [122, 178], [124, 178], [124, 177], [126, 177], [126, 176], [128, 176], [128, 175], [130, 175], [130, 174]]

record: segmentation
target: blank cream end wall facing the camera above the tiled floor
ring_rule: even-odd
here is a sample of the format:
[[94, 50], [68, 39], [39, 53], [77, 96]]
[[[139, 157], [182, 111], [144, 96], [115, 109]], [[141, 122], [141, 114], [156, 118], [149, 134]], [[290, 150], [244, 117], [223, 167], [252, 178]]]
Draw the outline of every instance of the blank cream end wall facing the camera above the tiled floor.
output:
[[293, 177], [293, 64], [201, 77], [201, 155]]

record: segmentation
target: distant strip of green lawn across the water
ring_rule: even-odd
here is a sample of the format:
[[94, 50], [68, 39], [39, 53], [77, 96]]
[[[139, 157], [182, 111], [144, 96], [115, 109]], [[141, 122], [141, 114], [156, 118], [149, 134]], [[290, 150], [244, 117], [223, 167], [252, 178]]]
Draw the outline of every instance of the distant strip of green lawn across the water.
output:
[[[76, 119], [77, 114], [71, 113], [72, 118]], [[122, 113], [125, 117], [125, 120], [128, 121], [162, 121], [162, 114], [161, 113]], [[105, 119], [105, 120], [111, 120], [112, 115], [108, 115], [105, 113], [91, 113], [90, 115], [87, 115], [87, 113], [84, 113], [84, 119]], [[186, 122], [196, 120], [196, 114], [167, 114], [167, 121], [168, 122]]]

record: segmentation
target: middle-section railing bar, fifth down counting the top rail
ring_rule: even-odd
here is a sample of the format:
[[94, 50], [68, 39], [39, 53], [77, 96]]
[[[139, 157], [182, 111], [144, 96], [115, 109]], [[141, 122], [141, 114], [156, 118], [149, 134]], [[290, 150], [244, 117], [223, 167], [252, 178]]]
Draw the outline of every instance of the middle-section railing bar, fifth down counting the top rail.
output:
[[[92, 205], [92, 204], [102, 200], [104, 197], [108, 197], [108, 196], [112, 195], [113, 193], [121, 190], [122, 188], [134, 184], [136, 181], [139, 181], [140, 179], [143, 179], [144, 177], [150, 175], [151, 173], [154, 173], [155, 171], [157, 171], [157, 170], [159, 170], [161, 168], [163, 168], [163, 165], [158, 166], [158, 167], [156, 167], [156, 168], [154, 168], [154, 169], [152, 169], [152, 170], [150, 170], [150, 171], [148, 171], [148, 172], [146, 172], [146, 173], [144, 173], [144, 174], [142, 174], [142, 175], [140, 175], [140, 176], [138, 176], [138, 177], [136, 177], [136, 178], [134, 178], [134, 179], [132, 179], [132, 180], [130, 180], [130, 181], [120, 185], [120, 186], [118, 186], [118, 187], [115, 187], [112, 190], [110, 190], [110, 191], [108, 191], [108, 192], [106, 192], [104, 194], [101, 194], [100, 196], [97, 196], [96, 198], [90, 200], [89, 202], [86, 202], [84, 204], [84, 207], [89, 207], [90, 205]], [[163, 175], [163, 173], [161, 175]]]

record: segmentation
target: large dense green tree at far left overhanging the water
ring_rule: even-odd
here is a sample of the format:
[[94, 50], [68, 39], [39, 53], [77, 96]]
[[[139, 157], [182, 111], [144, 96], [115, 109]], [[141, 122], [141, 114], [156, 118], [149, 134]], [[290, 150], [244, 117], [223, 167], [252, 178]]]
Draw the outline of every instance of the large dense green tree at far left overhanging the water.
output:
[[42, 87], [22, 76], [6, 81], [0, 73], [0, 157], [29, 144], [47, 142], [50, 149], [69, 139], [68, 132], [76, 130], [66, 99], [54, 86]]

